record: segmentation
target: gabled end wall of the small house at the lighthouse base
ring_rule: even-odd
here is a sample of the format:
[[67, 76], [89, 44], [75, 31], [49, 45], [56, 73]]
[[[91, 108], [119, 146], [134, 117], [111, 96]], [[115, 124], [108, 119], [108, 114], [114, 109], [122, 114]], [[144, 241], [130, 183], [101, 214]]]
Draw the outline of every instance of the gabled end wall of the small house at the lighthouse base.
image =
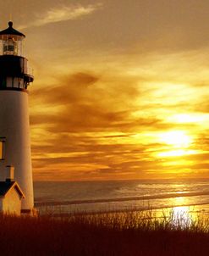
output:
[[20, 212], [21, 198], [19, 197], [19, 193], [15, 190], [15, 188], [12, 188], [3, 198], [3, 213], [19, 215]]

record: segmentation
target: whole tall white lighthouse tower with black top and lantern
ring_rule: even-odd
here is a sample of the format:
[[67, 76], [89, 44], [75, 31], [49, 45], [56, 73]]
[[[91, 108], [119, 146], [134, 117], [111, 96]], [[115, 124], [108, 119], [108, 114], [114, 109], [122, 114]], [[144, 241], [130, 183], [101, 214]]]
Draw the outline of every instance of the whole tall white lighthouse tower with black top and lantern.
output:
[[30, 157], [30, 126], [28, 90], [34, 80], [23, 53], [25, 35], [14, 30], [13, 22], [0, 31], [0, 177], [4, 179], [7, 165], [14, 166], [14, 180], [25, 194], [21, 211], [30, 213], [34, 207]]

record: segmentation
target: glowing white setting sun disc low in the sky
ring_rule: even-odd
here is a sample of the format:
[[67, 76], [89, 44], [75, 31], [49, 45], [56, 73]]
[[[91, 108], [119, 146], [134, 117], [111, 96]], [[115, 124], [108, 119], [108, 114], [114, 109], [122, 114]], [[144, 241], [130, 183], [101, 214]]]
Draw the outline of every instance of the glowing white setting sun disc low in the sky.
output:
[[159, 136], [161, 142], [173, 148], [187, 148], [192, 142], [191, 137], [185, 131], [168, 131]]

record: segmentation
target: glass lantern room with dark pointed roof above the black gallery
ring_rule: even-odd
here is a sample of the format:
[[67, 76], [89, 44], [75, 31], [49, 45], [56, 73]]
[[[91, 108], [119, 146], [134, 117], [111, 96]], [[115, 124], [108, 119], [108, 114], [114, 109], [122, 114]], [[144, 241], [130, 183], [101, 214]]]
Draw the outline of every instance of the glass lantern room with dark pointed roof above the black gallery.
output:
[[25, 35], [14, 30], [13, 22], [8, 22], [8, 29], [0, 31], [0, 55], [23, 56], [23, 40]]

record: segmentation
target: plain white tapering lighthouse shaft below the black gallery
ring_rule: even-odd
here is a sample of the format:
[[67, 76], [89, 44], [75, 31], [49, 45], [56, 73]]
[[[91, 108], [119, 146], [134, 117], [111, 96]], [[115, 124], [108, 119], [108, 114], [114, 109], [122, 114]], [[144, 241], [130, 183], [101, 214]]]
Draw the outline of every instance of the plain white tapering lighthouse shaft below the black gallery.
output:
[[0, 120], [0, 136], [5, 137], [5, 159], [0, 161], [1, 181], [5, 181], [5, 166], [13, 165], [14, 180], [25, 194], [22, 209], [33, 209], [28, 93], [0, 91]]

